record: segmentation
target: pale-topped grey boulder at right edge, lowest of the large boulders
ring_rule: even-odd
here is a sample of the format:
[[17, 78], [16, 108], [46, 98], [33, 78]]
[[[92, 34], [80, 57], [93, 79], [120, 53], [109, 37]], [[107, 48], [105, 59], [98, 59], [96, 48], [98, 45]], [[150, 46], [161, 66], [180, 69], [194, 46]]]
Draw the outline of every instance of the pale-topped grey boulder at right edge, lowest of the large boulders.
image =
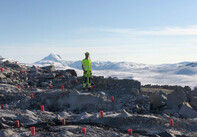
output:
[[189, 103], [184, 102], [179, 115], [185, 118], [197, 118], [197, 111], [193, 110]]

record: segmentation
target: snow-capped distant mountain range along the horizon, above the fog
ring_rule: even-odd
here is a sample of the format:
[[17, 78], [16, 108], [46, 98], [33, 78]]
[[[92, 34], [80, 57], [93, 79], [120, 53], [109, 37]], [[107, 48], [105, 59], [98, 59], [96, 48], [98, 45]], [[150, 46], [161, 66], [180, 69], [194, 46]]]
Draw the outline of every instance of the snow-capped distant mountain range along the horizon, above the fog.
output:
[[[38, 65], [50, 65], [53, 64], [57, 68], [70, 67], [75, 69], [81, 69], [81, 61], [66, 61], [57, 54], [49, 54], [47, 57], [35, 62]], [[162, 68], [180, 68], [184, 66], [197, 67], [197, 62], [181, 62], [175, 64], [161, 64], [161, 65], [147, 65], [134, 62], [111, 62], [111, 61], [93, 61], [92, 69], [94, 70], [131, 70], [131, 69], [162, 69]], [[179, 71], [178, 73], [181, 73]]]

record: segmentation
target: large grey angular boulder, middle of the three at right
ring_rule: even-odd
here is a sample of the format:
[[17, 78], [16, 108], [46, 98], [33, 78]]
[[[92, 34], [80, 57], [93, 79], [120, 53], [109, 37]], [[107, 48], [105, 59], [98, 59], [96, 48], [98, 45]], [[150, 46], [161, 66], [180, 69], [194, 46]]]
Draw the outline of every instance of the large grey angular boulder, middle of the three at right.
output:
[[167, 96], [167, 107], [176, 108], [183, 102], [187, 101], [187, 92], [178, 87], [174, 92], [168, 94]]

